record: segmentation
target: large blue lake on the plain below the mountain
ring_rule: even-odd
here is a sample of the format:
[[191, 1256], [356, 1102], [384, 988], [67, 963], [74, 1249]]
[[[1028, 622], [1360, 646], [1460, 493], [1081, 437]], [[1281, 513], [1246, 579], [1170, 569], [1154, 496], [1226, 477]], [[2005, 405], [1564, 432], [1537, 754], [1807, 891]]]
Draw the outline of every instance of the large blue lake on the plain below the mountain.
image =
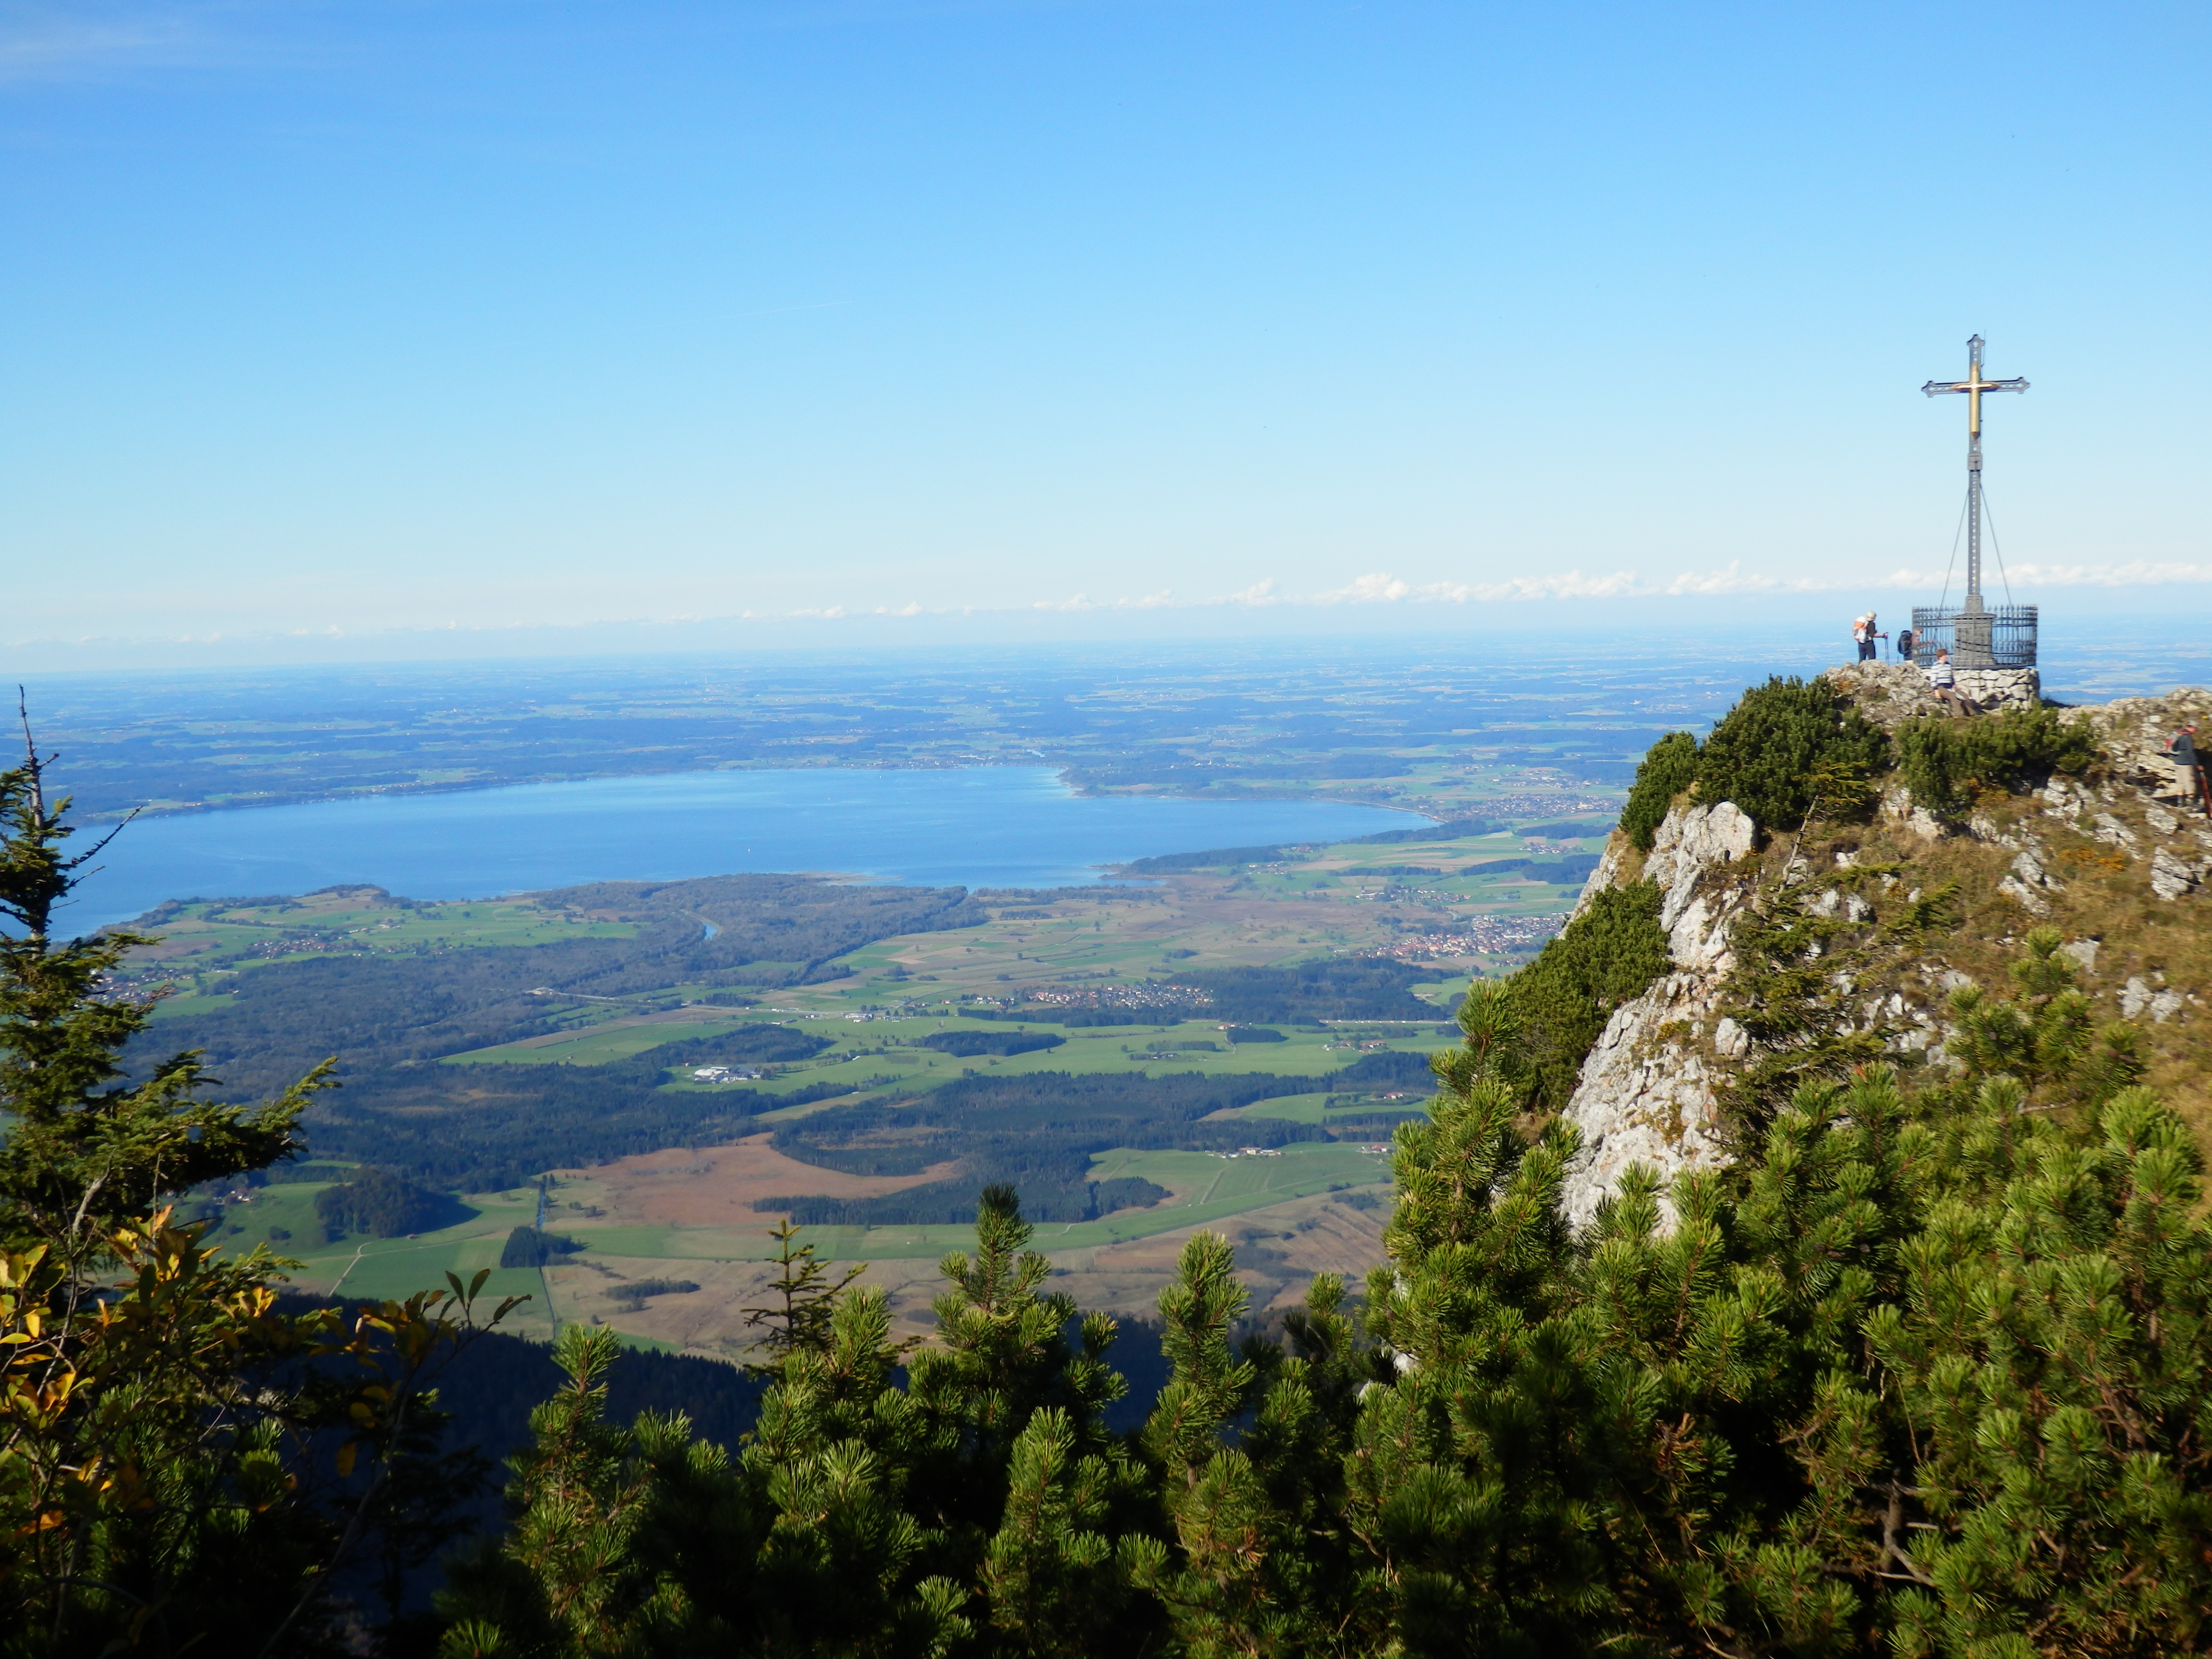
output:
[[1062, 887], [1164, 852], [1340, 841], [1418, 823], [1336, 801], [1086, 799], [1048, 768], [586, 779], [139, 818], [100, 854], [64, 920], [88, 931], [166, 898], [334, 883], [487, 898], [586, 880], [812, 869], [929, 887]]

